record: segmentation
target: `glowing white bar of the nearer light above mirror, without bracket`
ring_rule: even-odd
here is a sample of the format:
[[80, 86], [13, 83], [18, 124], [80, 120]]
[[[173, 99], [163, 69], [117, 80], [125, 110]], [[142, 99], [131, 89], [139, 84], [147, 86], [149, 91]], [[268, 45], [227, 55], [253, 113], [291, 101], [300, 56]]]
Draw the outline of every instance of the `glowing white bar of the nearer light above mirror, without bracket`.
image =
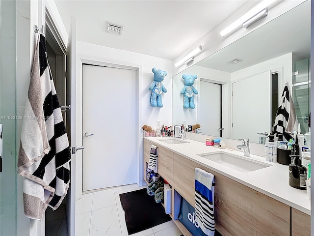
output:
[[259, 15], [259, 13], [261, 13], [265, 8], [267, 8], [267, 6], [271, 5], [275, 1], [276, 0], [263, 0], [261, 3], [253, 7], [248, 12], [246, 12], [243, 16], [237, 19], [234, 23], [232, 23], [226, 29], [221, 30], [220, 36], [224, 37], [225, 35], [237, 29], [238, 27], [243, 26], [243, 23], [251, 20], [251, 18], [255, 18], [254, 20], [256, 20], [257, 19], [256, 16]]

